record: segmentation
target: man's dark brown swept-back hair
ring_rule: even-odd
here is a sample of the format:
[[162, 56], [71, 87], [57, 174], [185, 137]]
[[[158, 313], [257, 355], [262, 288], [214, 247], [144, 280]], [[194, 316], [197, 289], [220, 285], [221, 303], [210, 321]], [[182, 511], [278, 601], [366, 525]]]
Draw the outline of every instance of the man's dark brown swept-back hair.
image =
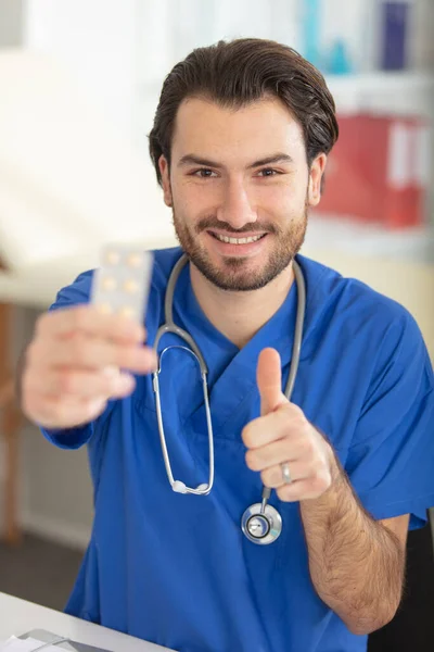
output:
[[193, 50], [167, 75], [149, 135], [161, 184], [158, 159], [170, 164], [175, 120], [182, 100], [204, 97], [241, 108], [264, 96], [279, 98], [301, 124], [307, 162], [328, 154], [337, 140], [335, 104], [321, 73], [298, 52], [276, 41], [243, 38]]

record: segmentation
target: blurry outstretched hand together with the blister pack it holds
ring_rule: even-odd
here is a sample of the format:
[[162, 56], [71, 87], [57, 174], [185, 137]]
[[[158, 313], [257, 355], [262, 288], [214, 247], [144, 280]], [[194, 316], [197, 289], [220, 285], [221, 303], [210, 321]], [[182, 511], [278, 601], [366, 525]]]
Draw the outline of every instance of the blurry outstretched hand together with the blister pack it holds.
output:
[[144, 328], [152, 261], [138, 248], [107, 247], [90, 304], [41, 315], [23, 372], [28, 418], [51, 429], [91, 423], [107, 401], [131, 394], [135, 375], [156, 368]]

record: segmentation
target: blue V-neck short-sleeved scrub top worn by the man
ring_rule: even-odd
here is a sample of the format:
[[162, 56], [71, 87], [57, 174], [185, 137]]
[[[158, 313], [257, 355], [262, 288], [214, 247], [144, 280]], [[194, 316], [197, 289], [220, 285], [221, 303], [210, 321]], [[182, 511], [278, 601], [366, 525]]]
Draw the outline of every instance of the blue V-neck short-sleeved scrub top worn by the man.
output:
[[[146, 328], [164, 322], [164, 294], [180, 249], [155, 252]], [[419, 328], [399, 304], [305, 256], [305, 330], [293, 402], [330, 438], [373, 518], [411, 514], [426, 522], [434, 505], [433, 372]], [[92, 273], [60, 291], [53, 309], [89, 300]], [[283, 518], [280, 538], [257, 546], [241, 531], [247, 505], [260, 500], [259, 474], [245, 465], [242, 428], [259, 415], [256, 364], [265, 347], [291, 362], [297, 289], [239, 350], [202, 312], [187, 265], [175, 293], [175, 321], [209, 368], [215, 485], [208, 497], [175, 493], [157, 431], [152, 377], [130, 398], [110, 402], [82, 428], [44, 431], [62, 448], [88, 444], [95, 516], [69, 614], [181, 652], [356, 652], [352, 635], [316, 594], [298, 503], [270, 503]], [[182, 343], [165, 336], [161, 349]], [[164, 426], [174, 476], [208, 479], [202, 386], [193, 359], [164, 358]]]

